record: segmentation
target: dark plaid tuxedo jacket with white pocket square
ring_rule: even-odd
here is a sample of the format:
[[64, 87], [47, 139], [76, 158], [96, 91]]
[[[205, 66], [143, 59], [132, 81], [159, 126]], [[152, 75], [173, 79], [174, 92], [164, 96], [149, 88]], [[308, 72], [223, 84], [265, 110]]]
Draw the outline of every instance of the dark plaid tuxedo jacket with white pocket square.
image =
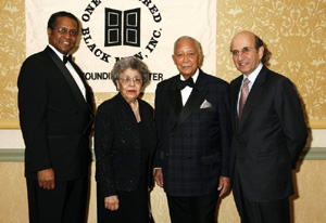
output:
[[220, 175], [229, 175], [229, 84], [200, 70], [183, 106], [179, 80], [177, 75], [156, 88], [155, 167], [162, 168], [168, 195], [212, 194], [217, 189]]

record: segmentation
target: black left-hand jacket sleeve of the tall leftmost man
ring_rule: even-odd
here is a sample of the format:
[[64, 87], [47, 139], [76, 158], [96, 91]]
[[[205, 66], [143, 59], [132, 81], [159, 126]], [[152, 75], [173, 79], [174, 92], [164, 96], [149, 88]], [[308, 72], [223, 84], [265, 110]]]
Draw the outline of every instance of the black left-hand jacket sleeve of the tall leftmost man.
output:
[[27, 60], [18, 76], [18, 108], [29, 171], [51, 168], [47, 143], [48, 83], [39, 63]]

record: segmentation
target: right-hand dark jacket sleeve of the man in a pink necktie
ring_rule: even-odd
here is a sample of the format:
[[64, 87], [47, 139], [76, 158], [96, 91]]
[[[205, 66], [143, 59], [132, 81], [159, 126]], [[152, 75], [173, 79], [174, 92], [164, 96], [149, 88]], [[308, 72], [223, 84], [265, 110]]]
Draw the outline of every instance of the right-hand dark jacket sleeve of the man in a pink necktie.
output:
[[283, 78], [277, 84], [275, 110], [283, 126], [291, 158], [291, 167], [294, 169], [306, 142], [306, 126], [299, 96], [291, 81]]

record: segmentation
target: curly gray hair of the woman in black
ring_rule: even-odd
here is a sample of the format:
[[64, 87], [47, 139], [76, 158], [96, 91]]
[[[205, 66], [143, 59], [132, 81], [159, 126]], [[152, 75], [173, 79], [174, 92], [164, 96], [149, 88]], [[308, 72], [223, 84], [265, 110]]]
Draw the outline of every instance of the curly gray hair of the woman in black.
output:
[[117, 87], [116, 82], [118, 80], [120, 75], [128, 68], [136, 69], [141, 75], [142, 87], [145, 86], [145, 83], [148, 82], [148, 77], [150, 73], [148, 66], [139, 58], [135, 56], [129, 56], [123, 57], [118, 62], [116, 62], [111, 70], [111, 79], [115, 87]]

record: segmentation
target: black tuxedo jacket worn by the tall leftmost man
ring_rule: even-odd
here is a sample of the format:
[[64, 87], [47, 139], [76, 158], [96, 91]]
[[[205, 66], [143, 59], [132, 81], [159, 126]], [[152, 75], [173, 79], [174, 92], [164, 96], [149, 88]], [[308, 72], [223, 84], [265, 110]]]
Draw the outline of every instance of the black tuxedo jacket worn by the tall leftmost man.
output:
[[83, 80], [87, 100], [51, 48], [22, 65], [17, 86], [27, 179], [36, 180], [37, 171], [49, 168], [59, 181], [74, 180], [88, 171], [93, 100], [82, 70], [72, 65]]

